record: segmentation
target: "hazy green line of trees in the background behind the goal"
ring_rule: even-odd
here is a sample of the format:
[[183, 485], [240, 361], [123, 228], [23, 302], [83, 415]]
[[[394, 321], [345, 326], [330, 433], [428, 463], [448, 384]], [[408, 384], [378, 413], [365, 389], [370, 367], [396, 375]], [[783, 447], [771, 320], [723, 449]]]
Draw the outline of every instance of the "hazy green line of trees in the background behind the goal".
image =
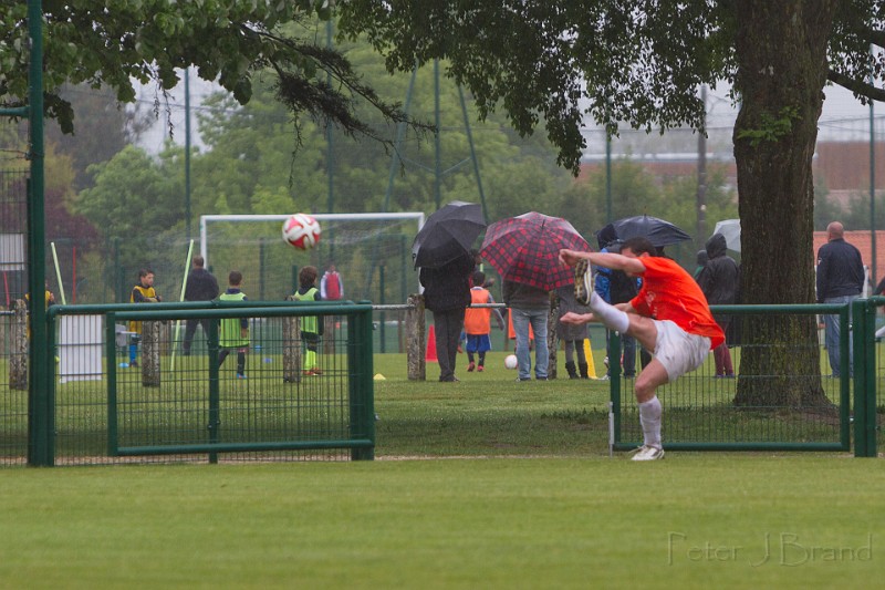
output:
[[[367, 44], [341, 49], [385, 101], [406, 101], [410, 75], [387, 74]], [[433, 69], [419, 70], [408, 105], [415, 118], [434, 121], [434, 86]], [[440, 203], [479, 201], [458, 87], [444, 77], [439, 89]], [[76, 113], [76, 132], [65, 135], [54, 123], [48, 124], [48, 239], [80, 242], [81, 275], [101, 267], [105, 281], [114, 280], [111, 251], [128, 266], [162, 265], [163, 245], [187, 238], [184, 128], [174, 130], [177, 142], [167, 141], [159, 153], [150, 153], [139, 142], [157, 124], [152, 108], [143, 104], [123, 108], [113, 93], [85, 86], [67, 86], [62, 95]], [[545, 134], [520, 137], [496, 113], [477, 122], [476, 107], [465, 96], [488, 221], [538, 210], [569, 219], [595, 246], [593, 234], [606, 222], [604, 168], [575, 180], [556, 165], [556, 149]], [[391, 139], [396, 137], [396, 126], [368, 105], [363, 108], [361, 116]], [[198, 237], [197, 222], [206, 214], [436, 209], [433, 135], [404, 135], [388, 192], [395, 162], [389, 148], [333, 128], [330, 151], [324, 121], [302, 122], [295, 133], [291, 113], [261, 76], [254, 80], [247, 105], [219, 92], [192, 113], [205, 147], [191, 148], [191, 237]], [[647, 213], [691, 232], [696, 190], [695, 175], [662, 184], [631, 158], [612, 165], [613, 219]], [[735, 189], [727, 186], [721, 167], [712, 166], [708, 173], [707, 200], [707, 218], [714, 222], [737, 217]], [[675, 249], [671, 256], [690, 267], [696, 246], [702, 247], [705, 239], [699, 237], [698, 245]], [[176, 252], [169, 263], [179, 257]], [[90, 297], [88, 290], [81, 292]]]

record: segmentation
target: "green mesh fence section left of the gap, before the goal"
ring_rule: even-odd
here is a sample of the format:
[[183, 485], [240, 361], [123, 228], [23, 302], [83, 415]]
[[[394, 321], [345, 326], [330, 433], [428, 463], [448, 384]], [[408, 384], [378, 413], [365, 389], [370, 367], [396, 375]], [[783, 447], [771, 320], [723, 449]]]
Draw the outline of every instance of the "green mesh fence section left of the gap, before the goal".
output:
[[[305, 315], [329, 327], [309, 374], [298, 330]], [[249, 325], [244, 379], [237, 350], [220, 359], [226, 318]], [[208, 320], [209, 333], [200, 328], [196, 340], [206, 342], [184, 356], [187, 319]], [[144, 332], [137, 366], [131, 321]], [[0, 412], [6, 463], [23, 463], [25, 441], [33, 465], [374, 457], [368, 304], [55, 306], [48, 322], [56, 375], [33, 392], [30, 425], [24, 396], [18, 412]]]

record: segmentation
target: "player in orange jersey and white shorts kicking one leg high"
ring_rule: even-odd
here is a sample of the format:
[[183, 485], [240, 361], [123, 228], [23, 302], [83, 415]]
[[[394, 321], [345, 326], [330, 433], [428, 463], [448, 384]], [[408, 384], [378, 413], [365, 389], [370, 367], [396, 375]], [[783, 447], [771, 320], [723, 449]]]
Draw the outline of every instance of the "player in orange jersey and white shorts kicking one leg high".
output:
[[[657, 387], [700, 366], [710, 350], [726, 339], [698, 283], [675, 261], [657, 256], [657, 251], [646, 238], [626, 240], [621, 253], [560, 251], [560, 261], [574, 267], [575, 298], [591, 309], [591, 313], [566, 313], [561, 321], [575, 324], [600, 321], [653, 351], [652, 362], [634, 382], [643, 446], [633, 460], [664, 458], [663, 408]], [[593, 290], [591, 265], [641, 277], [642, 290], [631, 301], [611, 306]]]

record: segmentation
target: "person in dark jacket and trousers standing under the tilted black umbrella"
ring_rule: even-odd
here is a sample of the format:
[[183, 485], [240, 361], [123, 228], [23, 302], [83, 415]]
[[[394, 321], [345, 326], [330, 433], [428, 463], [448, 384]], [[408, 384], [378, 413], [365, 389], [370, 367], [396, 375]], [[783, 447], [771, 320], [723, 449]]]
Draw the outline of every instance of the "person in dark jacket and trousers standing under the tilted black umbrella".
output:
[[439, 268], [421, 268], [424, 306], [434, 313], [439, 381], [459, 381], [455, 376], [458, 338], [464, 329], [464, 312], [470, 304], [470, 275], [473, 257], [468, 252]]

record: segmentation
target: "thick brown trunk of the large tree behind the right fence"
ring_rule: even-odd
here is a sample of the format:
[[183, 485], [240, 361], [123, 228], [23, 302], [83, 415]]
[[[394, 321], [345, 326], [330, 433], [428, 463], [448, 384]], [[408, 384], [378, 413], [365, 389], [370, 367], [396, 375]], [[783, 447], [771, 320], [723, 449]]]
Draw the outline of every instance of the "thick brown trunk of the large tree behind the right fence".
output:
[[[738, 0], [735, 124], [746, 303], [813, 303], [811, 169], [836, 0]], [[743, 325], [737, 405], [829, 405], [813, 315]]]

